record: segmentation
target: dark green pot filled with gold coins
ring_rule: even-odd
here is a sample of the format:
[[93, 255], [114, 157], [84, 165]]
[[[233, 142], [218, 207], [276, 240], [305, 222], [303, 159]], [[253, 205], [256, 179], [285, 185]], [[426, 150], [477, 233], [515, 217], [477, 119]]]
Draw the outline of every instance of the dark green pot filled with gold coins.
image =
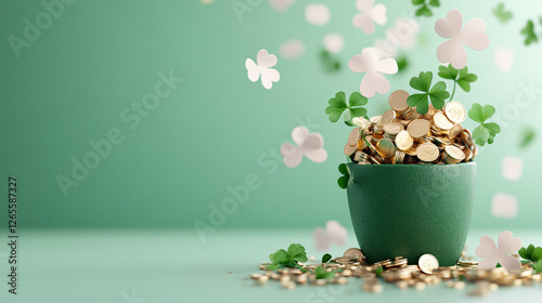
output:
[[455, 265], [473, 213], [476, 163], [348, 163], [348, 205], [360, 249], [370, 263], [424, 253]]

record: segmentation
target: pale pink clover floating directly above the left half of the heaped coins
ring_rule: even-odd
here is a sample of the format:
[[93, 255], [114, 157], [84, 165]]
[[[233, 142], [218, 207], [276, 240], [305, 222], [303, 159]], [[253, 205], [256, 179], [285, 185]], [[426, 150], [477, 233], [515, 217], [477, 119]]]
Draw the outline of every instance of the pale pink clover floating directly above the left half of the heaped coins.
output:
[[374, 48], [363, 49], [361, 55], [354, 55], [348, 62], [348, 67], [353, 73], [365, 73], [360, 83], [360, 93], [365, 97], [389, 92], [389, 81], [380, 74], [396, 74], [398, 70], [393, 58], [379, 60], [378, 50]]

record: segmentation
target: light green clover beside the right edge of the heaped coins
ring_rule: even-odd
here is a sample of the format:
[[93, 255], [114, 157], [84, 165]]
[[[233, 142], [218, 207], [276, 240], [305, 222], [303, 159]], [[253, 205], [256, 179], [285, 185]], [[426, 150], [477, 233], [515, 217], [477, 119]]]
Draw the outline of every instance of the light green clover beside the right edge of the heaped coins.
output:
[[473, 139], [479, 146], [483, 146], [486, 143], [492, 144], [495, 135], [501, 132], [501, 128], [496, 123], [486, 122], [494, 114], [495, 108], [493, 106], [485, 105], [482, 107], [478, 103], [473, 104], [473, 107], [468, 110], [468, 117], [473, 121], [480, 123], [473, 131]]

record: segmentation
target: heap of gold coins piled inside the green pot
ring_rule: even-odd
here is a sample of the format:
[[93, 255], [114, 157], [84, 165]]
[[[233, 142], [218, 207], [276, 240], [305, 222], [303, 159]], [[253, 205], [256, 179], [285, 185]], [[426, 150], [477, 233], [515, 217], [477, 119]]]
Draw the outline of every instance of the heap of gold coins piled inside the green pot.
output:
[[406, 91], [392, 92], [391, 109], [372, 117], [366, 128], [354, 128], [345, 155], [358, 164], [454, 164], [478, 155], [470, 132], [461, 126], [467, 115], [461, 103], [449, 102], [442, 109], [429, 105], [420, 115], [408, 97]]

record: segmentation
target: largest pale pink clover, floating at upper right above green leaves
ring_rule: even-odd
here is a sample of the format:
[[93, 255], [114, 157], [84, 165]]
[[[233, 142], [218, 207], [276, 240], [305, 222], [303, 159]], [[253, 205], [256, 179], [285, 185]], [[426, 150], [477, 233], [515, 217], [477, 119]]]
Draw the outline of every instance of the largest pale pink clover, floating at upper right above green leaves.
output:
[[437, 49], [437, 57], [441, 63], [451, 63], [455, 69], [462, 69], [467, 65], [467, 54], [463, 44], [474, 50], [485, 50], [489, 45], [489, 38], [483, 32], [486, 23], [474, 18], [463, 24], [463, 15], [457, 10], [448, 12], [446, 18], [439, 18], [435, 24], [435, 31], [450, 40], [440, 44]]

